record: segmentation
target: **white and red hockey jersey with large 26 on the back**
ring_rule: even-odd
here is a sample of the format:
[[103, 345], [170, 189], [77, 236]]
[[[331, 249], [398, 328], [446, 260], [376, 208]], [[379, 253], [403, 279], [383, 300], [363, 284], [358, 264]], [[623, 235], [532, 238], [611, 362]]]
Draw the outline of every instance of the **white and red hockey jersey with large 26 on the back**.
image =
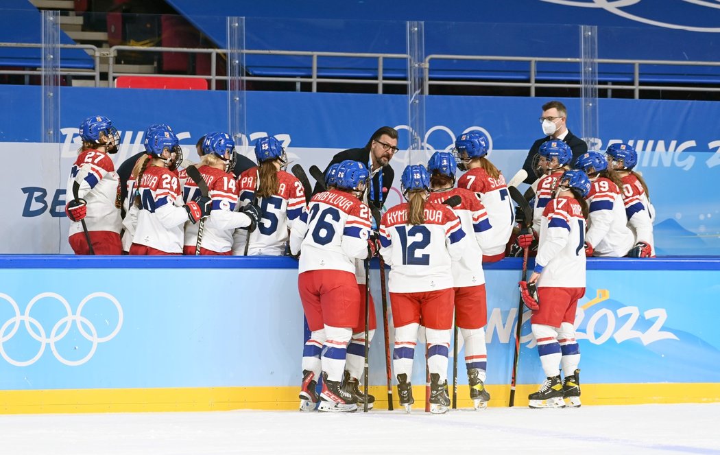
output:
[[367, 257], [370, 226], [370, 209], [354, 195], [339, 190], [316, 194], [290, 234], [290, 251], [302, 252], [299, 273], [343, 270], [355, 274], [355, 260]]

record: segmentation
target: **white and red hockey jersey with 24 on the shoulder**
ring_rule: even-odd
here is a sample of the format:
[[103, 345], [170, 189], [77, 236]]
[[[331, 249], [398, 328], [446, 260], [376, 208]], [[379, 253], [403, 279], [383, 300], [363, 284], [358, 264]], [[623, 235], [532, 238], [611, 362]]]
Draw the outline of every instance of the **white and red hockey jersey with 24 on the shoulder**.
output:
[[167, 253], [182, 253], [187, 211], [182, 207], [177, 175], [161, 166], [148, 166], [138, 185], [141, 210], [132, 243]]

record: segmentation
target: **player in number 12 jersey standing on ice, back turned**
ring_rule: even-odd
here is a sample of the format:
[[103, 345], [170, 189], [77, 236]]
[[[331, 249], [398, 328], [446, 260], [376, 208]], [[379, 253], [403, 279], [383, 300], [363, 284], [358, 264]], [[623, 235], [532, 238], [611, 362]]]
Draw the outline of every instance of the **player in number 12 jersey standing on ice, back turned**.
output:
[[463, 254], [465, 232], [458, 216], [428, 201], [430, 176], [425, 166], [405, 167], [401, 178], [407, 203], [390, 208], [380, 223], [380, 252], [390, 265], [390, 304], [395, 326], [393, 368], [400, 405], [410, 412], [415, 344], [420, 322], [426, 327], [430, 371], [430, 410], [448, 411], [447, 367], [453, 324], [453, 261]]

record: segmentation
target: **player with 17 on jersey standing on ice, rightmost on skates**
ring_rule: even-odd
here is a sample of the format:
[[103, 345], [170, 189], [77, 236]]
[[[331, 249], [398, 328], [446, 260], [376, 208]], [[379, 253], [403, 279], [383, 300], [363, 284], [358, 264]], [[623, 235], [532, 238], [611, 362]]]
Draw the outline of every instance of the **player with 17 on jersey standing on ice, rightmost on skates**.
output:
[[[541, 221], [535, 269], [520, 282], [533, 310], [531, 327], [547, 379], [529, 395], [529, 406], [580, 406], [580, 348], [575, 340], [577, 301], [585, 295], [585, 196], [590, 180], [581, 170], [566, 171], [552, 190]], [[560, 379], [562, 365], [565, 381]]]

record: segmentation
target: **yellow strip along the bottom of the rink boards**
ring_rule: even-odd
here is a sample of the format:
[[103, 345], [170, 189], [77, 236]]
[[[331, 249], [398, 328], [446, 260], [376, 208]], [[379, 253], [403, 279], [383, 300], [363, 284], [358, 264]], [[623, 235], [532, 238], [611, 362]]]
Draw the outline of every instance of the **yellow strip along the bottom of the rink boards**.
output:
[[[720, 402], [720, 384], [581, 384], [583, 405]], [[539, 384], [518, 385], [516, 406], [527, 406]], [[0, 391], [0, 413], [164, 412], [225, 410], [297, 410], [299, 386], [197, 387], [161, 389], [53, 389]], [[506, 407], [509, 385], [489, 385], [490, 407]], [[397, 390], [393, 386], [395, 409]], [[370, 387], [375, 409], [387, 410], [387, 388]], [[452, 387], [450, 388], [452, 394]], [[413, 386], [415, 405], [423, 410], [425, 386]], [[458, 407], [472, 407], [467, 385], [458, 386]]]

